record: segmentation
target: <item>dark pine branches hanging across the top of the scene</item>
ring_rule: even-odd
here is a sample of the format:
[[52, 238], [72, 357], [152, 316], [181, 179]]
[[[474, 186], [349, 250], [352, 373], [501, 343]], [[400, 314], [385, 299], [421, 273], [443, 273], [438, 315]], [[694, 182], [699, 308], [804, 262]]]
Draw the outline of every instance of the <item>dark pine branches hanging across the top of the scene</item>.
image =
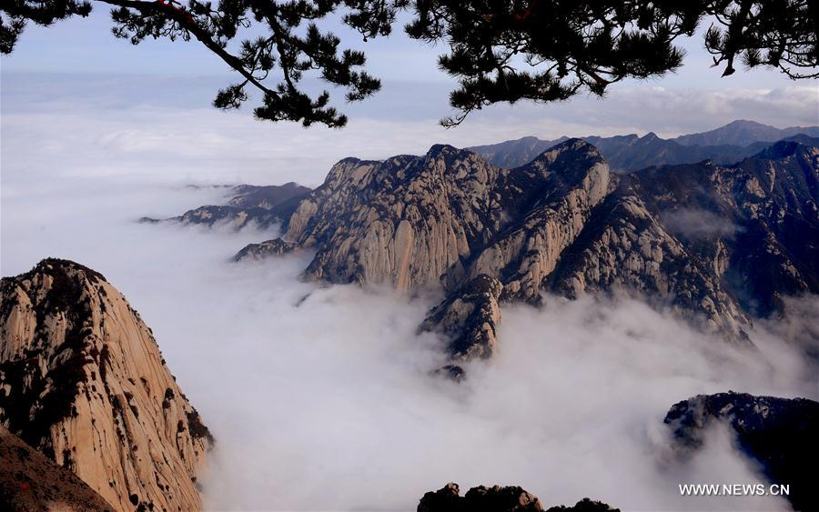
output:
[[[113, 5], [113, 33], [138, 44], [147, 37], [197, 39], [241, 76], [218, 92], [214, 105], [238, 108], [248, 87], [263, 94], [255, 115], [272, 121], [343, 126], [347, 117], [329, 105], [329, 92], [311, 97], [300, 87], [318, 74], [360, 101], [380, 88], [363, 71], [365, 56], [340, 49], [339, 37], [318, 20], [338, 13], [368, 40], [389, 35], [399, 11], [412, 14], [410, 37], [444, 43], [440, 67], [457, 78], [450, 94], [458, 125], [474, 110], [521, 99], [561, 101], [582, 90], [604, 95], [625, 78], [662, 76], [682, 65], [674, 45], [709, 23], [704, 46], [723, 76], [771, 66], [794, 79], [819, 77], [819, 2], [814, 0], [97, 0]], [[51, 25], [86, 16], [76, 0], [5, 0], [0, 6], [0, 52], [10, 53], [26, 22]], [[251, 27], [262, 35], [243, 39]], [[272, 75], [271, 75], [272, 74]], [[275, 84], [274, 84], [275, 83]]]

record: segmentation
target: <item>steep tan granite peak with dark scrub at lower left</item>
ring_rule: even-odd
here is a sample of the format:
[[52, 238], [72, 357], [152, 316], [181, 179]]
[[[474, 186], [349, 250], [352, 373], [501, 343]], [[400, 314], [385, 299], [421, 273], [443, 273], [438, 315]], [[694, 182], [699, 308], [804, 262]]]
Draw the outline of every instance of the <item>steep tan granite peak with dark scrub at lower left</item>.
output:
[[0, 425], [116, 509], [197, 510], [213, 444], [114, 286], [46, 259], [0, 285]]

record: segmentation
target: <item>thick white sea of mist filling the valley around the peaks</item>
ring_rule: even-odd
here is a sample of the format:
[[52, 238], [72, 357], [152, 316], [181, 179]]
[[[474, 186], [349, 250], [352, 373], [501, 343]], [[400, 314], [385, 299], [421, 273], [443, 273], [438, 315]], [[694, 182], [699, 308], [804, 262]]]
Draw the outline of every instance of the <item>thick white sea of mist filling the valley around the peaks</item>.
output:
[[139, 311], [217, 438], [199, 479], [208, 509], [411, 510], [450, 481], [520, 485], [547, 507], [592, 497], [624, 510], [788, 509], [774, 497], [681, 497], [682, 483], [764, 480], [723, 431], [678, 461], [662, 417], [729, 389], [815, 399], [786, 339], [813, 337], [804, 319], [759, 322], [759, 350], [739, 351], [639, 301], [549, 296], [504, 307], [497, 356], [456, 384], [430, 376], [446, 360], [441, 340], [416, 334], [440, 297], [304, 282], [309, 254], [228, 261], [275, 228], [135, 222], [225, 200], [224, 188], [189, 184], [5, 181], [0, 265], [13, 276], [46, 256], [73, 259]]

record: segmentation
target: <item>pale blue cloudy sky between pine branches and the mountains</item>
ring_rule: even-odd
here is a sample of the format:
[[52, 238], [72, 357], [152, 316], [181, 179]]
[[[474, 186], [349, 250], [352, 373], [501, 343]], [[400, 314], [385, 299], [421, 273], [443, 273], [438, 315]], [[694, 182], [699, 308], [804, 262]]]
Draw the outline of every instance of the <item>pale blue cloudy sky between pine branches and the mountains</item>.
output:
[[[364, 44], [338, 21], [328, 25], [345, 45], [367, 53], [369, 71], [383, 83], [369, 100], [339, 105], [350, 118], [345, 129], [259, 122], [250, 113], [252, 98], [237, 112], [217, 111], [210, 107], [213, 96], [236, 79], [217, 56], [196, 42], [147, 40], [134, 46], [116, 39], [106, 7], [96, 5], [87, 19], [29, 26], [15, 52], [0, 57], [3, 142], [15, 147], [15, 137], [26, 130], [53, 140], [52, 128], [70, 126], [67, 136], [78, 139], [72, 149], [86, 148], [88, 160], [112, 151], [114, 144], [121, 159], [130, 161], [138, 160], [137, 154], [151, 159], [157, 149], [185, 158], [190, 145], [207, 146], [206, 152], [213, 148], [243, 161], [239, 169], [223, 166], [217, 172], [221, 179], [270, 183], [282, 176], [316, 185], [342, 157], [422, 154], [437, 143], [463, 147], [531, 135], [650, 131], [677, 136], [734, 119], [778, 127], [819, 125], [815, 81], [794, 82], [764, 69], [721, 78], [722, 70], [710, 67], [699, 34], [682, 40], [688, 55], [675, 74], [612, 85], [604, 100], [579, 95], [553, 105], [493, 105], [446, 130], [437, 122], [452, 114], [447, 95], [454, 82], [437, 68], [440, 46], [410, 40], [401, 30]], [[4, 153], [6, 166], [17, 166], [14, 150]], [[185, 166], [202, 163], [188, 159]], [[209, 169], [198, 172], [204, 180], [219, 179]]]

